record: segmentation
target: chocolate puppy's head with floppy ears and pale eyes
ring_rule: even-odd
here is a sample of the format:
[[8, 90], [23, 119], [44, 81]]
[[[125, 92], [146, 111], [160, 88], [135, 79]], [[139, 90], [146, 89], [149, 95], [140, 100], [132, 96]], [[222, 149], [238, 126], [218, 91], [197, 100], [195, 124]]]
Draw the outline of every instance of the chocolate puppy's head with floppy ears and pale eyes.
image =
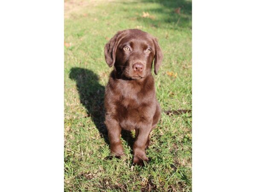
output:
[[139, 29], [127, 29], [117, 32], [105, 45], [105, 59], [121, 76], [143, 79], [151, 74], [153, 60], [157, 75], [163, 53], [156, 38]]

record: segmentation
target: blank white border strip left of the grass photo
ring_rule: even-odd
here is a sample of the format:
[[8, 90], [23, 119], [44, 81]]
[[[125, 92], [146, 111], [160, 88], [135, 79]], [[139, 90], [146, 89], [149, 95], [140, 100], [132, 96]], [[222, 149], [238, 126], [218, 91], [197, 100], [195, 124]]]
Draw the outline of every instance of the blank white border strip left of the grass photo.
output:
[[0, 3], [0, 191], [64, 190], [64, 2]]

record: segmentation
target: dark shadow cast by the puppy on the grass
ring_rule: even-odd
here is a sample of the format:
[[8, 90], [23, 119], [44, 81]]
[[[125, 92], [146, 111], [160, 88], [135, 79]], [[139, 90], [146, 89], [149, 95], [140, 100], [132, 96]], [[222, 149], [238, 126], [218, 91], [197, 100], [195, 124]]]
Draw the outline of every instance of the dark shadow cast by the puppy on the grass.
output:
[[[99, 134], [109, 145], [108, 131], [105, 126], [104, 93], [105, 87], [99, 84], [99, 76], [92, 70], [73, 67], [69, 78], [76, 81], [80, 102], [86, 108], [88, 115], [93, 120]], [[122, 138], [132, 148], [134, 137], [130, 131], [122, 131]]]

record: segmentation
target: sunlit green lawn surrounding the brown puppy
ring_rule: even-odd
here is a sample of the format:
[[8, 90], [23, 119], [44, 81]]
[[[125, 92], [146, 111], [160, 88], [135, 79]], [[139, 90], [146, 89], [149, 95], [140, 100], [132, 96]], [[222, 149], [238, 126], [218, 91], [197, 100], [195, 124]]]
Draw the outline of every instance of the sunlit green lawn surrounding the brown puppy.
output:
[[[65, 191], [192, 191], [192, 115], [164, 113], [192, 109], [191, 1], [65, 4]], [[150, 17], [142, 17], [143, 12]], [[151, 161], [144, 167], [132, 165], [134, 132], [122, 133], [126, 157], [110, 158], [104, 125], [104, 90], [112, 70], [105, 63], [104, 46], [118, 30], [132, 28], [157, 37], [164, 54], [154, 75], [162, 116], [151, 132]]]

